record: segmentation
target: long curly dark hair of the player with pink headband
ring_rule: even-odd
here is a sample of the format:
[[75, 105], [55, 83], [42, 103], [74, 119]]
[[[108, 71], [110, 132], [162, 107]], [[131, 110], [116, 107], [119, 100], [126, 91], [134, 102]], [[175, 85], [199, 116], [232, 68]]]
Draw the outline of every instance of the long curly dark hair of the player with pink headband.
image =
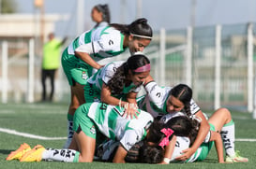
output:
[[130, 56], [126, 63], [123, 63], [116, 69], [116, 72], [109, 80], [107, 86], [113, 94], [120, 94], [126, 85], [125, 82], [128, 76], [128, 70], [130, 70], [133, 75], [140, 74], [134, 72], [134, 70], [148, 63], [150, 63], [149, 59], [143, 54]]

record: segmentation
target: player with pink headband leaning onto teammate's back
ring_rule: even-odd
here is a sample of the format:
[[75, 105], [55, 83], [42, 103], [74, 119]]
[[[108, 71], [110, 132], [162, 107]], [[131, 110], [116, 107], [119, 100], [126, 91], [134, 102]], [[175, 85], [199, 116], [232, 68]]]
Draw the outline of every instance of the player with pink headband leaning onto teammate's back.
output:
[[108, 63], [87, 80], [85, 102], [103, 102], [126, 107], [126, 115], [136, 116], [136, 96], [149, 76], [150, 61], [143, 54], [132, 55], [127, 62]]

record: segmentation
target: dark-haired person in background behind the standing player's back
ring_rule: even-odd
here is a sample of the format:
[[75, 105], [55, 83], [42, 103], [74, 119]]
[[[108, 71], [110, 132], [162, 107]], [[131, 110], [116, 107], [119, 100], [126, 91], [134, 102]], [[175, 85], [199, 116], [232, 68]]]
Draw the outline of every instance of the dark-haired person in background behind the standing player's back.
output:
[[92, 20], [97, 24], [95, 28], [98, 26], [107, 26], [111, 22], [110, 9], [107, 4], [105, 5], [97, 5], [92, 8], [91, 12]]

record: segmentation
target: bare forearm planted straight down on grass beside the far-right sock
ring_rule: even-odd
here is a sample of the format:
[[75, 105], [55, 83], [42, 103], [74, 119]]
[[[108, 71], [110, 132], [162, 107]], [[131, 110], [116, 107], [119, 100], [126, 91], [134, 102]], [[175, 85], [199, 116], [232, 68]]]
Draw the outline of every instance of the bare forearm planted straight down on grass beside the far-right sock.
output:
[[218, 134], [217, 132], [211, 131], [210, 141], [214, 141], [215, 143], [215, 148], [218, 154], [218, 162], [224, 163], [223, 143], [222, 143], [221, 135]]

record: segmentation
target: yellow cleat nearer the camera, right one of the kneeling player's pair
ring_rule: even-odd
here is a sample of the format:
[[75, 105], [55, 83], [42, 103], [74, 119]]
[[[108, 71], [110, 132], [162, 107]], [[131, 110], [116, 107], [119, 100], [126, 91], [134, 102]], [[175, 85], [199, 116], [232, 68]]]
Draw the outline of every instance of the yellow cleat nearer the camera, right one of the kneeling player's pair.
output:
[[33, 149], [27, 151], [20, 162], [40, 162], [42, 160], [42, 153], [45, 151], [41, 145], [35, 146]]

